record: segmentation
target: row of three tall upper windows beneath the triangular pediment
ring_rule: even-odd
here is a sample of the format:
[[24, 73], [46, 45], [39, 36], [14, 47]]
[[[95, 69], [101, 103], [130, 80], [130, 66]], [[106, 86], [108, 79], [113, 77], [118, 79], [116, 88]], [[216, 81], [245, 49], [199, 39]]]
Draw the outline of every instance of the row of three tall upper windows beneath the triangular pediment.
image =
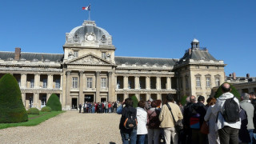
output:
[[[86, 78], [87, 89], [93, 88], [93, 78]], [[78, 88], [78, 77], [72, 78], [72, 88]], [[101, 78], [101, 88], [106, 88], [106, 78]]]

